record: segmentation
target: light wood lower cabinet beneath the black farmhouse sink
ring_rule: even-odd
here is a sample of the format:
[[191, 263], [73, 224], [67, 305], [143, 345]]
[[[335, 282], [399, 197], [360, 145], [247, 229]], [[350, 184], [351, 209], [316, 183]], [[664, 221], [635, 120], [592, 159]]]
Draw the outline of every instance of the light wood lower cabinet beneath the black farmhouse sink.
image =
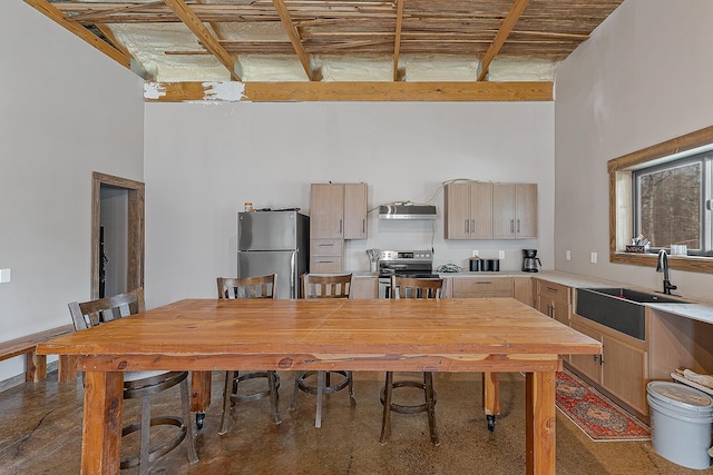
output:
[[574, 315], [572, 328], [602, 342], [602, 355], [570, 355], [575, 373], [599, 385], [600, 389], [639, 415], [648, 416], [646, 342]]

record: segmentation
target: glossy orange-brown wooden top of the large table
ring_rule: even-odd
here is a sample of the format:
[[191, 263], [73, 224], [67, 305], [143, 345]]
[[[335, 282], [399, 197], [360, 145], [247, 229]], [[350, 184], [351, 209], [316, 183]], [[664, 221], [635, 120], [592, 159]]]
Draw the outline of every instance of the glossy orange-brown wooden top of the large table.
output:
[[599, 354], [512, 298], [187, 299], [38, 346], [55, 355]]

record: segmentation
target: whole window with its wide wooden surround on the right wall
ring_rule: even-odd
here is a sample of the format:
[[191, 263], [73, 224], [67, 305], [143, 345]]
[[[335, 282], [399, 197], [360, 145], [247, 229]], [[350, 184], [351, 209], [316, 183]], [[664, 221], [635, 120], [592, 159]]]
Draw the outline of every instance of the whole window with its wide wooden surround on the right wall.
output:
[[[713, 274], [713, 126], [609, 160], [607, 170], [611, 263], [655, 267], [666, 249], [671, 268]], [[649, 253], [627, 249], [638, 235]]]

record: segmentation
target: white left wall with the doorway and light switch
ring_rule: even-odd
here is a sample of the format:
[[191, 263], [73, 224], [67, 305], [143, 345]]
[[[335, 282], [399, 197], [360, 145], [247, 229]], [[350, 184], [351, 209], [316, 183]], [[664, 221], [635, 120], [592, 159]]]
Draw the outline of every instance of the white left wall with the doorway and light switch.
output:
[[[143, 179], [140, 78], [20, 0], [0, 16], [0, 340], [89, 298], [91, 172]], [[0, 363], [0, 380], [23, 372]]]

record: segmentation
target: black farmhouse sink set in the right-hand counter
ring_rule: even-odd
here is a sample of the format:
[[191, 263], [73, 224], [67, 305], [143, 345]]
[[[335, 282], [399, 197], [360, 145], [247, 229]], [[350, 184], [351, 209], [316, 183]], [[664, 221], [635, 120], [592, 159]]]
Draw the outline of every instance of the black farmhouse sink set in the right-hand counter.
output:
[[646, 307], [643, 304], [687, 304], [668, 296], [629, 288], [578, 288], [576, 314], [622, 331], [646, 338]]

